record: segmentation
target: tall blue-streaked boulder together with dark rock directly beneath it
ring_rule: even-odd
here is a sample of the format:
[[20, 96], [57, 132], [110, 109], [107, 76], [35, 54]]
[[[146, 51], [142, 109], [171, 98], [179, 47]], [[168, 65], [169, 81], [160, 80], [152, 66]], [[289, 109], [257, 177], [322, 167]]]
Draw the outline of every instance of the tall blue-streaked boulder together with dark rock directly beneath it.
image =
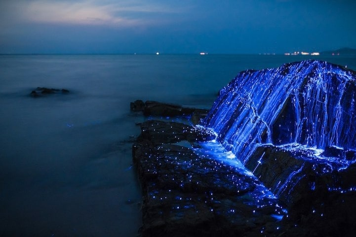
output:
[[286, 203], [290, 223], [308, 235], [349, 236], [355, 100], [356, 72], [341, 66], [308, 60], [247, 70], [221, 90], [203, 125]]

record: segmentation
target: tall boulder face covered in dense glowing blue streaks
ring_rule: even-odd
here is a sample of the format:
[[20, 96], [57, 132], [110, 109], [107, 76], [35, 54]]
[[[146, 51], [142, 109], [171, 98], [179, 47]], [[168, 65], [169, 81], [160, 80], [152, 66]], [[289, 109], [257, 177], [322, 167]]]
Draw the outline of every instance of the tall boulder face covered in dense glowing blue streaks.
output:
[[356, 148], [355, 92], [356, 73], [327, 62], [246, 70], [220, 91], [203, 124], [243, 164], [263, 143], [345, 155]]

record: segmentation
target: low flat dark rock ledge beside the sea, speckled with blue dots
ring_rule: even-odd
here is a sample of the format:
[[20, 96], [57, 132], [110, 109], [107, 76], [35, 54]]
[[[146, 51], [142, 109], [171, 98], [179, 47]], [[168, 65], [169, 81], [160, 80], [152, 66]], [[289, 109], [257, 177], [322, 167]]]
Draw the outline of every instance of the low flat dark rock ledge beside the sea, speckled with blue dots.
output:
[[[277, 200], [257, 198], [261, 183], [256, 178], [191, 148], [188, 140], [210, 138], [209, 132], [189, 138], [194, 136], [192, 130], [185, 124], [163, 121], [141, 125], [132, 152], [143, 191], [142, 236], [280, 234], [276, 217], [282, 210]], [[175, 142], [186, 145], [171, 144]]]

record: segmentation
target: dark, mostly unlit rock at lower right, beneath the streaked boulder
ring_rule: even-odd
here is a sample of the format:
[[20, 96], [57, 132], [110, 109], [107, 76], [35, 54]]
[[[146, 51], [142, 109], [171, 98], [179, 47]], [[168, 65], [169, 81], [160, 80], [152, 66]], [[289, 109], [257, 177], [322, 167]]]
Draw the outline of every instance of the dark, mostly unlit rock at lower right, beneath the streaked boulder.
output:
[[356, 164], [348, 162], [261, 145], [245, 166], [285, 203], [284, 226], [297, 225], [308, 236], [351, 237], [356, 233]]

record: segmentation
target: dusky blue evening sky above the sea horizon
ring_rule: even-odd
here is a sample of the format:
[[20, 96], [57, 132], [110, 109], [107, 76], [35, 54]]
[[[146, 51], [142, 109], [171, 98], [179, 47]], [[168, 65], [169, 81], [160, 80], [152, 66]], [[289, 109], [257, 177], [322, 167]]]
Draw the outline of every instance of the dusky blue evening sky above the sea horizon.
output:
[[355, 0], [0, 0], [0, 53], [356, 48]]

